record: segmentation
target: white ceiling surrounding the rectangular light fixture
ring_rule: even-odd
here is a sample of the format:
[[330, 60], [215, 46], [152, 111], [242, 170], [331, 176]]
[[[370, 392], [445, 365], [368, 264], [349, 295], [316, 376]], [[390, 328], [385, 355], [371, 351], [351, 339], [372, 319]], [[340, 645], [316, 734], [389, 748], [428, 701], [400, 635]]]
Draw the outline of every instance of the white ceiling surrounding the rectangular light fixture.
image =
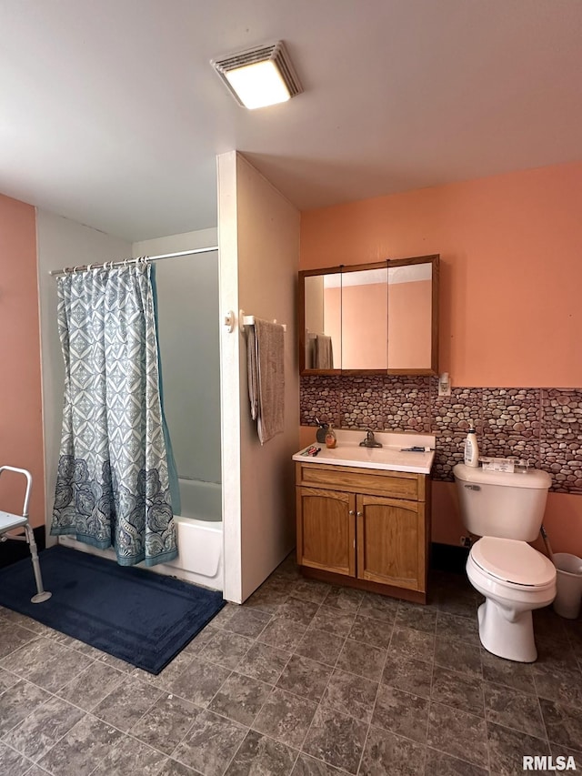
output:
[[[581, 0], [0, 0], [0, 192], [128, 240], [216, 227], [237, 149], [301, 210], [582, 157]], [[246, 111], [211, 58], [285, 40]]]

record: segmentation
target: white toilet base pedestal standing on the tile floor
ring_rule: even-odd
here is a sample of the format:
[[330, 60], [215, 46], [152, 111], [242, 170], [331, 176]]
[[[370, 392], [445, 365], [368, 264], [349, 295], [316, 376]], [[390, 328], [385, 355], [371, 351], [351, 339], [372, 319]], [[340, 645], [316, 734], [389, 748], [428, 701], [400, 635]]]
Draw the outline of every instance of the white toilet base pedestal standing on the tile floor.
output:
[[537, 660], [534, 623], [531, 610], [521, 611], [515, 620], [507, 620], [507, 613], [494, 600], [486, 599], [477, 610], [479, 639], [488, 652], [505, 660], [533, 663]]

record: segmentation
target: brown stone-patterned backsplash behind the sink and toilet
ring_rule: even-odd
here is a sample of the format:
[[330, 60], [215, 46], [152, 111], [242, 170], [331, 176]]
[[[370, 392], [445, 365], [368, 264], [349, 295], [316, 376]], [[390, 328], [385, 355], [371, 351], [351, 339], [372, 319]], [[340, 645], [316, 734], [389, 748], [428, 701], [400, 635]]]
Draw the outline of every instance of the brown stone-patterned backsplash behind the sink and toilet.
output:
[[469, 422], [482, 455], [529, 459], [552, 490], [582, 495], [582, 388], [453, 388], [437, 378], [392, 375], [301, 378], [302, 426], [316, 418], [338, 428], [435, 434], [433, 479], [452, 480]]

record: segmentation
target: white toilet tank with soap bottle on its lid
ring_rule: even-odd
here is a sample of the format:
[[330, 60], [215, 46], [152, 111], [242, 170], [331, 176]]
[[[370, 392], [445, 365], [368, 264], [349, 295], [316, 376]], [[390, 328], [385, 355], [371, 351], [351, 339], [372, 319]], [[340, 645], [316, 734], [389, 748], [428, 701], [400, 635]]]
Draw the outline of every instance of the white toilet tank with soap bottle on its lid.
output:
[[545, 471], [508, 474], [457, 463], [453, 467], [461, 517], [476, 536], [533, 541], [544, 519], [552, 480]]

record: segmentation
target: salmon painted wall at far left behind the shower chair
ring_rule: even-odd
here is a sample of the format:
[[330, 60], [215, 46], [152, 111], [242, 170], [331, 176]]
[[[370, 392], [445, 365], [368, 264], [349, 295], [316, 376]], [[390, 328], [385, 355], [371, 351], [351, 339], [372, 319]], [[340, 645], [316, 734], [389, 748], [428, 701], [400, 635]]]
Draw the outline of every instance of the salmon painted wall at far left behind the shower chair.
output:
[[[33, 476], [33, 526], [45, 521], [35, 208], [0, 195], [0, 464]], [[25, 479], [0, 478], [0, 509], [22, 514]]]

